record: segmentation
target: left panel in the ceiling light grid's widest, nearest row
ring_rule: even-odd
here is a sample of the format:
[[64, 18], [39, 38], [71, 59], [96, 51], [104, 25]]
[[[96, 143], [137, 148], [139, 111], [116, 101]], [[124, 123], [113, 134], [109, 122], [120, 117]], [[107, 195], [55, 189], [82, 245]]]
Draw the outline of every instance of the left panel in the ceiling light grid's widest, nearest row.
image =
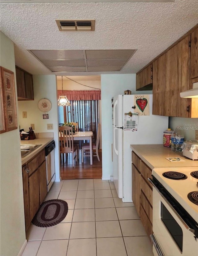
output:
[[82, 50], [30, 50], [39, 60], [80, 60]]

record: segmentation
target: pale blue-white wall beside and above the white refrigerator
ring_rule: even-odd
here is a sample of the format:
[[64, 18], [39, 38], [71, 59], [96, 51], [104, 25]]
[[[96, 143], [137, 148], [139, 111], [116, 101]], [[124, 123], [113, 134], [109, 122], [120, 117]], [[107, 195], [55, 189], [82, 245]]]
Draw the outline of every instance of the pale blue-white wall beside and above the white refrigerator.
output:
[[102, 179], [110, 180], [113, 174], [111, 157], [112, 144], [112, 107], [111, 98], [117, 94], [152, 94], [152, 91], [136, 91], [136, 74], [101, 75], [101, 114], [102, 114]]

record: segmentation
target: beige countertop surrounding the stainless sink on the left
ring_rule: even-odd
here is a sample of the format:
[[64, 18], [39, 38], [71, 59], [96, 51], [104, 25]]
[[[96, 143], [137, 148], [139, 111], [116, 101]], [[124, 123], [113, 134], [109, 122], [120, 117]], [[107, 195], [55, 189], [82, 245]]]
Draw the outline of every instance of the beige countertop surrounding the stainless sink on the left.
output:
[[28, 162], [31, 158], [33, 158], [39, 151], [45, 148], [47, 144], [49, 144], [51, 141], [53, 141], [54, 138], [36, 138], [31, 140], [20, 140], [20, 145], [37, 145], [41, 144], [40, 147], [32, 151], [30, 154], [28, 154], [26, 157], [21, 158], [21, 164], [25, 164]]

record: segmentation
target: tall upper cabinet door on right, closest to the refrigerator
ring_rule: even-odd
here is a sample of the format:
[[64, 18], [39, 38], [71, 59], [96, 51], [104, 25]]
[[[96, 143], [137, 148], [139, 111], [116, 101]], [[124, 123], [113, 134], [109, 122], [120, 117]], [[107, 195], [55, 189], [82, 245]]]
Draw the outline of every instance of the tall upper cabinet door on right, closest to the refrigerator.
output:
[[166, 53], [153, 62], [153, 115], [165, 114]]

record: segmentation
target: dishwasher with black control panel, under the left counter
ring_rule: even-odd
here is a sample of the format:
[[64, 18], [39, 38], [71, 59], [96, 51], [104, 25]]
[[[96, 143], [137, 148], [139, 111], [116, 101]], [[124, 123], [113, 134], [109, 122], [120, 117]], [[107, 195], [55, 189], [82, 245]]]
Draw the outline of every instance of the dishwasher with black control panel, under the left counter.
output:
[[49, 192], [56, 177], [54, 149], [55, 149], [54, 140], [45, 147], [45, 159], [46, 159], [46, 168], [47, 168], [47, 192]]

